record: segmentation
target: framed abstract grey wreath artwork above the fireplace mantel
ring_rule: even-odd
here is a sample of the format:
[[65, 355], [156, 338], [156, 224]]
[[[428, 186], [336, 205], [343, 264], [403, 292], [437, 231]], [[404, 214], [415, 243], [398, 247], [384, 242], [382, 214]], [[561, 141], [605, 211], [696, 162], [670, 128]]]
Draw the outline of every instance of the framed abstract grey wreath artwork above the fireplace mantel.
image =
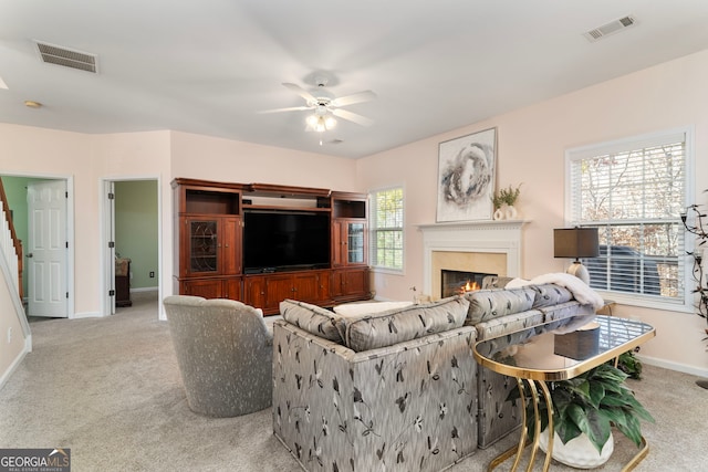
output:
[[497, 128], [439, 145], [437, 221], [491, 220]]

